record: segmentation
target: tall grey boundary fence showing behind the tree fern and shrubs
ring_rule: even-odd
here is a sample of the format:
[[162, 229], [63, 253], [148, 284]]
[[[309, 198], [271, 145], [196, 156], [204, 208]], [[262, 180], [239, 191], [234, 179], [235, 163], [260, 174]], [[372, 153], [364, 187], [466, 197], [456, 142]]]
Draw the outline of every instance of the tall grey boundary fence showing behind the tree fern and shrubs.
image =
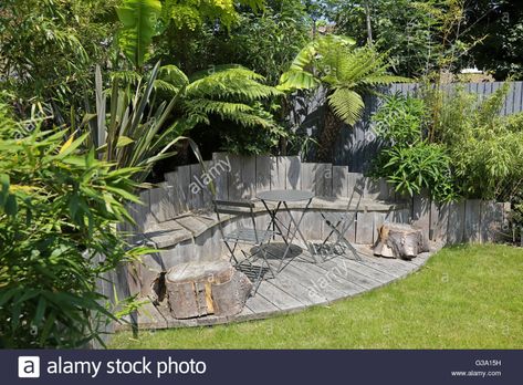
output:
[[[503, 82], [490, 83], [459, 83], [464, 91], [475, 93], [480, 97], [491, 95], [500, 89]], [[510, 91], [505, 97], [502, 115], [510, 115], [523, 111], [523, 82], [511, 82]], [[391, 95], [395, 93], [414, 94], [419, 90], [419, 84], [393, 84], [379, 90], [380, 93]], [[352, 173], [363, 173], [369, 167], [380, 148], [380, 141], [374, 134], [370, 117], [378, 110], [381, 100], [375, 95], [365, 96], [365, 111], [362, 119], [352, 128], [344, 125], [334, 148], [334, 164], [348, 166]], [[291, 124], [299, 134], [313, 136], [323, 126], [325, 113], [325, 91], [318, 90], [312, 96], [299, 95], [294, 98], [290, 113]]]

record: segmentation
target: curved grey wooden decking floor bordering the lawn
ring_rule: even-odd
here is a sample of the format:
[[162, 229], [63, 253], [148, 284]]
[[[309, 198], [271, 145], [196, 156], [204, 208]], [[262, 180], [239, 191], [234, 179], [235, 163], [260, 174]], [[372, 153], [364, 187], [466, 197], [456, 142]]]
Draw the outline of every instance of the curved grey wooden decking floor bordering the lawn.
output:
[[[138, 327], [202, 326], [297, 312], [308, 306], [351, 298], [405, 278], [423, 266], [431, 254], [427, 252], [404, 261], [374, 257], [368, 246], [357, 246], [357, 249], [362, 261], [356, 261], [352, 256], [314, 258], [300, 248], [293, 249], [292, 261], [275, 278], [263, 280], [255, 295], [247, 301], [243, 311], [234, 316], [175, 320], [167, 309], [148, 302], [137, 314]], [[282, 248], [278, 246], [273, 250], [282, 252]], [[271, 266], [276, 267], [278, 263], [278, 260], [271, 260]]]

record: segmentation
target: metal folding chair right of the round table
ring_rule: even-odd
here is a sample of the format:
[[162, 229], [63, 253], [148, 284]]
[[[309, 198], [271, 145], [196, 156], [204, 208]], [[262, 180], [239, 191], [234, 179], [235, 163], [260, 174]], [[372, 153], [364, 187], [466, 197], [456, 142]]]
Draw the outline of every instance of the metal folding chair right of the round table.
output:
[[357, 223], [357, 212], [362, 202], [365, 183], [358, 179], [354, 186], [351, 198], [348, 199], [345, 211], [322, 211], [322, 218], [328, 227], [327, 237], [320, 244], [313, 244], [313, 252], [322, 256], [346, 254], [345, 249], [351, 250], [356, 260], [360, 261], [362, 257], [346, 238], [348, 229]]

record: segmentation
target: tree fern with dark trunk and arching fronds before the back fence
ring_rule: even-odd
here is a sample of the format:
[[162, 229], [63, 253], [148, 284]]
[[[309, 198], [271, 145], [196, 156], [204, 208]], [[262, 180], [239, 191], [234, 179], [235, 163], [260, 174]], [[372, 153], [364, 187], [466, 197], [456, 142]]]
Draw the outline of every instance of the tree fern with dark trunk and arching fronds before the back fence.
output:
[[386, 54], [370, 46], [354, 45], [351, 38], [321, 37], [303, 48], [281, 76], [282, 91], [313, 90], [320, 85], [327, 90], [328, 108], [317, 154], [322, 162], [332, 162], [333, 146], [342, 127], [339, 121], [352, 126], [362, 116], [363, 93], [379, 85], [409, 81], [387, 73]]

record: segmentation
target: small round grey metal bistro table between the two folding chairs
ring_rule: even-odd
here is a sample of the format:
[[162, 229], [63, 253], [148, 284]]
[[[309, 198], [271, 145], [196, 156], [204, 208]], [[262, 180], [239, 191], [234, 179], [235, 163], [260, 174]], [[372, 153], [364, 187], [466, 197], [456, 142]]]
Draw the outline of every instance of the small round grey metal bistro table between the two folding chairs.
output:
[[[273, 226], [274, 230], [278, 229], [278, 233], [282, 237], [283, 241], [286, 244], [285, 251], [283, 252], [280, 266], [278, 268], [278, 271], [281, 271], [286, 264], [291, 262], [289, 261], [287, 263], [285, 263], [285, 266], [283, 264], [289, 251], [291, 250], [291, 246], [293, 244], [293, 241], [296, 238], [296, 233], [300, 236], [305, 247], [307, 244], [307, 240], [300, 230], [300, 223], [302, 222], [303, 217], [307, 212], [308, 206], [311, 205], [311, 201], [314, 198], [314, 194], [311, 191], [303, 190], [270, 190], [259, 192], [257, 195], [257, 198], [263, 202], [266, 212], [269, 212], [269, 215], [271, 216], [271, 222], [269, 223], [269, 227]], [[303, 212], [297, 222], [292, 216], [292, 212], [287, 206], [289, 202], [295, 201], [306, 201], [306, 205], [303, 208]], [[269, 208], [268, 202], [276, 204], [276, 206], [274, 208]], [[289, 225], [284, 223], [280, 218], [278, 218], [278, 212], [281, 209], [284, 209], [289, 214]], [[285, 231], [283, 231], [282, 228]]]

